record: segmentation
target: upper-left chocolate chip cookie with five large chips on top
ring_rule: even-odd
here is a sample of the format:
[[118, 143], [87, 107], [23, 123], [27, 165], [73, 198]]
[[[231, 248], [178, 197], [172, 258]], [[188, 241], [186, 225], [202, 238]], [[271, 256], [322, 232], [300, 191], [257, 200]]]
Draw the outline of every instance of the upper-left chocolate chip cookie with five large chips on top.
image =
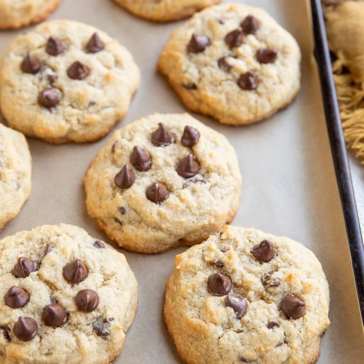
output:
[[126, 114], [139, 78], [132, 55], [116, 39], [83, 23], [54, 20], [6, 50], [0, 108], [27, 136], [92, 142]]

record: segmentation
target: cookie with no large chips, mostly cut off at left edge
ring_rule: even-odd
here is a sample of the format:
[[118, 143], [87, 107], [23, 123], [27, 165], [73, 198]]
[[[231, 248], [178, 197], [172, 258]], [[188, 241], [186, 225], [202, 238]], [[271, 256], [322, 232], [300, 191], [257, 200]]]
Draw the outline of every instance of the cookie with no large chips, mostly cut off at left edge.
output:
[[0, 123], [0, 231], [31, 192], [32, 157], [23, 134]]

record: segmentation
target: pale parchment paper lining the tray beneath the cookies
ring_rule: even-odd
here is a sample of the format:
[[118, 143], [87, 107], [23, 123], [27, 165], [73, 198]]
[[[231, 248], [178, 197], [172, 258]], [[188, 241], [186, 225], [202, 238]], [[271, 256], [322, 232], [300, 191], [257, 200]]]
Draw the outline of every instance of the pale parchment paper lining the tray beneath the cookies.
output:
[[[311, 56], [313, 43], [306, 5], [302, 0], [244, 2], [265, 8], [298, 40], [303, 53], [298, 98], [271, 119], [248, 127], [223, 126], [211, 118], [193, 116], [224, 133], [237, 151], [243, 184], [233, 224], [289, 236], [312, 249], [322, 263], [331, 289], [331, 327], [323, 337], [318, 363], [362, 364], [363, 327], [317, 70]], [[185, 111], [155, 68], [168, 34], [180, 23], [141, 20], [111, 0], [64, 0], [50, 18], [95, 25], [132, 52], [141, 68], [142, 82], [129, 113], [116, 128], [154, 112]], [[24, 30], [0, 32], [0, 52], [21, 32]], [[6, 225], [0, 238], [38, 225], [65, 222], [110, 242], [86, 213], [82, 182], [89, 162], [107, 139], [65, 146], [28, 139], [33, 155], [32, 197], [17, 218]], [[161, 312], [165, 281], [173, 270], [175, 255], [183, 250], [142, 255], [120, 249], [139, 283], [139, 310], [115, 363], [182, 363], [166, 334]]]

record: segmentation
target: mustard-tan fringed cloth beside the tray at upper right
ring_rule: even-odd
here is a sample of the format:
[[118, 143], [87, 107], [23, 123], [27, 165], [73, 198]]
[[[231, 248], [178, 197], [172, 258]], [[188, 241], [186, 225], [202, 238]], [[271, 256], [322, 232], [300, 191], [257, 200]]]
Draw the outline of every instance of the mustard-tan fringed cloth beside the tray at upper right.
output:
[[364, 1], [324, 8], [341, 120], [347, 146], [364, 164]]

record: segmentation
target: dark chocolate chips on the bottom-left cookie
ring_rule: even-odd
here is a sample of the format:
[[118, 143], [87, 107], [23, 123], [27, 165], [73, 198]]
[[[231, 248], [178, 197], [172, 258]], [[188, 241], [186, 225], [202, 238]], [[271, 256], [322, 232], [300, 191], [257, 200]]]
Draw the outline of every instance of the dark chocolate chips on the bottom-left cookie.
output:
[[[105, 248], [100, 241], [93, 243], [95, 248]], [[46, 256], [52, 250], [52, 246], [47, 244], [45, 249]], [[41, 264], [41, 263], [40, 263]], [[39, 269], [38, 265], [27, 257], [20, 257], [13, 268], [13, 275], [19, 279], [28, 277], [32, 272]], [[63, 277], [72, 284], [84, 281], [88, 276], [87, 266], [80, 260], [76, 259], [63, 268]], [[4, 300], [5, 304], [13, 309], [22, 308], [29, 302], [29, 293], [18, 286], [9, 288], [6, 292]], [[76, 294], [75, 305], [77, 309], [84, 313], [95, 311], [99, 305], [99, 295], [92, 289], [82, 289]], [[50, 298], [50, 304], [43, 308], [42, 318], [46, 326], [53, 328], [64, 326], [68, 321], [68, 313], [54, 298]], [[113, 318], [108, 319], [112, 321]], [[106, 338], [108, 332], [104, 330], [104, 326], [100, 326], [97, 322], [94, 324], [94, 331], [102, 338]], [[103, 330], [101, 330], [103, 328]], [[0, 326], [0, 332], [10, 341], [9, 328]], [[19, 317], [14, 324], [13, 333], [21, 341], [32, 340], [38, 332], [38, 324], [33, 317]]]

